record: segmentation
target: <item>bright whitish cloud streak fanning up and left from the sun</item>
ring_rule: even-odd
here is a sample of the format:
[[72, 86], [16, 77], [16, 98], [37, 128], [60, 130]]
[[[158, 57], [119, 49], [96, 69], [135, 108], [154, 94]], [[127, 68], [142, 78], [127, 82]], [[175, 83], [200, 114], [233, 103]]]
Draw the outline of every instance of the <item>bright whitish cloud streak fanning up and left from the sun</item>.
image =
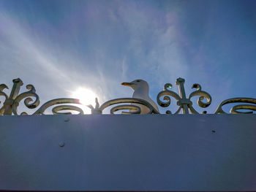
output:
[[[3, 80], [21, 77], [23, 82], [32, 81], [38, 85], [37, 88], [44, 90], [42, 97], [46, 97], [45, 99], [53, 99], [61, 94], [67, 97], [66, 94], [78, 86], [91, 87], [95, 92], [99, 91], [97, 94], [101, 95], [100, 99], [106, 99], [104, 93], [108, 95], [105, 90], [105, 87], [108, 87], [105, 85], [107, 80], [100, 68], [99, 75], [88, 69], [79, 72], [77, 66], [83, 66], [86, 61], [82, 62], [68, 54], [53, 55], [56, 52], [50, 45], [44, 47], [43, 42], [34, 39], [31, 31], [20, 26], [10, 15], [1, 14], [0, 23], [1, 54], [6, 54], [1, 57], [1, 65], [4, 66], [1, 70]], [[68, 65], [64, 65], [67, 63]], [[59, 88], [59, 93], [52, 91], [54, 87]]]

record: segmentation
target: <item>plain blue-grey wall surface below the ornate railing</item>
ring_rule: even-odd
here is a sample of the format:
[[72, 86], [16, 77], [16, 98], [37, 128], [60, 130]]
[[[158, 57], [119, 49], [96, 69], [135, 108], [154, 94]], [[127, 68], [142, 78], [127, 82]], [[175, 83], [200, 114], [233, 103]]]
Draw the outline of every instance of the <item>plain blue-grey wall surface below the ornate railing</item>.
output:
[[0, 117], [0, 189], [256, 191], [256, 115]]

